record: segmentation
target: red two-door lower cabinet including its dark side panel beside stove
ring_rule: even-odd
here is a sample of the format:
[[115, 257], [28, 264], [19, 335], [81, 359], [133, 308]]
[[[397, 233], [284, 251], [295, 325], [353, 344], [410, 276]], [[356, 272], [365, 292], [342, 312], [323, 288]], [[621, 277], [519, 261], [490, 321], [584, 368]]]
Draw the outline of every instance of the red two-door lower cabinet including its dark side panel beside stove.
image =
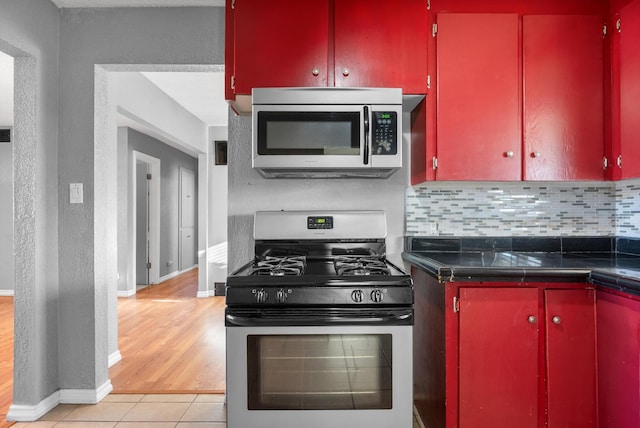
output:
[[[414, 404], [425, 426], [598, 427], [595, 290], [578, 283], [442, 284], [416, 268], [412, 276]], [[619, 364], [609, 387], [635, 370], [630, 400], [637, 417], [636, 317], [635, 369]], [[607, 401], [611, 410], [615, 400]], [[615, 419], [599, 428], [631, 426], [640, 423]]]

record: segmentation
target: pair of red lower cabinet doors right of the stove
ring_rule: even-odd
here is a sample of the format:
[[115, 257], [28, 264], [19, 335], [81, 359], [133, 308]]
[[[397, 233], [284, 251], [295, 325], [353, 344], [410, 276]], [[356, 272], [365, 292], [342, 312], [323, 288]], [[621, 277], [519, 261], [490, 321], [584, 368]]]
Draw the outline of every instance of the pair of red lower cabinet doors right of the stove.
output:
[[459, 296], [460, 428], [596, 427], [594, 290]]

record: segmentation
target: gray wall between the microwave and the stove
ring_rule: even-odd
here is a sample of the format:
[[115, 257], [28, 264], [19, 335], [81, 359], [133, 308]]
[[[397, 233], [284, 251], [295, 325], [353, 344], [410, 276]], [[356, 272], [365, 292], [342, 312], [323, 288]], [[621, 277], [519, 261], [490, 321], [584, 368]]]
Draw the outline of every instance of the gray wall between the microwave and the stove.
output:
[[[407, 165], [407, 114], [403, 120]], [[251, 117], [233, 114], [229, 116], [228, 160], [229, 272], [253, 257], [253, 214], [258, 210], [384, 210], [387, 254], [402, 263], [408, 167], [388, 179], [265, 179], [251, 168]]]

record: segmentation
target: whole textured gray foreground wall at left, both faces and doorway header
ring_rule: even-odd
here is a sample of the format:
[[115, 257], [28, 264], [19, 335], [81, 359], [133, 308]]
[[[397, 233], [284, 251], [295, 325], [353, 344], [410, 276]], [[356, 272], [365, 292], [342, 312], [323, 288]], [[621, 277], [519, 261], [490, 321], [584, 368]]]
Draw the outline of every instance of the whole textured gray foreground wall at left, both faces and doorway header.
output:
[[[35, 406], [108, 383], [109, 293], [94, 257], [95, 65], [223, 64], [224, 9], [58, 10], [46, 0], [1, 9], [0, 49], [20, 57], [14, 404]], [[83, 204], [69, 204], [70, 183], [84, 184]]]

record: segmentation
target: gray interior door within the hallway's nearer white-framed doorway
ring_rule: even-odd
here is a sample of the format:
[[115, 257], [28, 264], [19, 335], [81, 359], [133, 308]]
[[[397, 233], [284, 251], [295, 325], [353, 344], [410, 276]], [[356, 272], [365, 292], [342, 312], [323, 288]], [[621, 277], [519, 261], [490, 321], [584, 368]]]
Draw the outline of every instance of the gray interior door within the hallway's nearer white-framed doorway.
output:
[[149, 164], [136, 162], [136, 284], [149, 284]]

